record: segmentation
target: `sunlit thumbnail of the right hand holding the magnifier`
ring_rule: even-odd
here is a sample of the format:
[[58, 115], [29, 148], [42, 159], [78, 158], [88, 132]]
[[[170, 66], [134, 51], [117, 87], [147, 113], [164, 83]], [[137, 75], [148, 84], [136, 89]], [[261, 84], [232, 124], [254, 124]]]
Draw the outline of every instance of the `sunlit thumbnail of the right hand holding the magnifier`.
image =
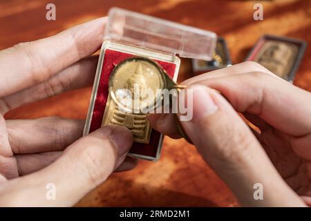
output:
[[211, 89], [199, 84], [189, 86], [193, 90], [193, 113], [192, 122], [198, 122], [202, 117], [211, 115], [218, 110], [218, 106], [211, 97]]

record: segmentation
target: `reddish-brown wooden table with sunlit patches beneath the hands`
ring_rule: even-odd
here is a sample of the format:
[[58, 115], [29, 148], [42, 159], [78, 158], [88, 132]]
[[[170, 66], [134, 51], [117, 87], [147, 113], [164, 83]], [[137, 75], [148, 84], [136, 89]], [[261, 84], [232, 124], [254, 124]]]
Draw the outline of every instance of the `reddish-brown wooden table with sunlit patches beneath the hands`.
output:
[[[56, 5], [57, 20], [46, 21], [46, 4]], [[256, 1], [257, 2], [257, 1]], [[311, 45], [311, 1], [262, 1], [263, 21], [254, 21], [255, 1], [189, 0], [0, 0], [0, 49], [54, 35], [78, 23], [105, 16], [117, 6], [211, 30], [225, 37], [234, 64], [243, 61], [261, 35], [305, 39]], [[311, 90], [311, 49], [306, 50], [294, 84]], [[182, 60], [178, 81], [191, 77]], [[6, 118], [57, 115], [84, 119], [91, 88], [28, 104]], [[115, 173], [77, 206], [237, 206], [224, 182], [185, 140], [165, 137], [158, 162], [141, 161], [136, 169]]]

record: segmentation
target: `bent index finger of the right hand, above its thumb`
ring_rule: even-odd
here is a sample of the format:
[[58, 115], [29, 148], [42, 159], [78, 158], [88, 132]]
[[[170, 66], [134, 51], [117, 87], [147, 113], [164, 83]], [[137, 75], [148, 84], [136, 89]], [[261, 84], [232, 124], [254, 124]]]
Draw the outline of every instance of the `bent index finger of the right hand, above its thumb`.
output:
[[311, 132], [311, 118], [305, 117], [311, 115], [311, 106], [305, 106], [311, 103], [311, 94], [278, 77], [247, 73], [196, 84], [219, 90], [236, 111], [257, 115], [279, 131], [294, 136]]

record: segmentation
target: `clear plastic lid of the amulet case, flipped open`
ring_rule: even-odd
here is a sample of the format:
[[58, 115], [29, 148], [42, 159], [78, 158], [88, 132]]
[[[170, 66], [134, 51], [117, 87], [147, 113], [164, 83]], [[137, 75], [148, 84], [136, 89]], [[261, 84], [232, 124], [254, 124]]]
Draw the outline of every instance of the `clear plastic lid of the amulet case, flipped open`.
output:
[[217, 35], [138, 12], [111, 8], [104, 39], [169, 55], [210, 60]]

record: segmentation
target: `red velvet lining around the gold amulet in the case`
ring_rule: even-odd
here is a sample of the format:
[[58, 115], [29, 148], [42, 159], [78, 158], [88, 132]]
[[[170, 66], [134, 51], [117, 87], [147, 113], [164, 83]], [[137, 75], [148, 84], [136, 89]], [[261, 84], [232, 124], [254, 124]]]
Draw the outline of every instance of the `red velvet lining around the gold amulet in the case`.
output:
[[[95, 98], [95, 104], [93, 109], [92, 121], [90, 126], [90, 133], [100, 128], [102, 125], [102, 117], [104, 116], [104, 110], [108, 98], [108, 88], [109, 88], [109, 76], [113, 68], [119, 64], [124, 59], [130, 57], [136, 57], [125, 52], [120, 52], [116, 50], [106, 49], [104, 52], [104, 61], [102, 64], [102, 73], [100, 76], [100, 84], [97, 89], [97, 95]], [[155, 60], [162, 68], [167, 72], [170, 77], [173, 77], [176, 64]], [[148, 155], [151, 157], [156, 157], [158, 144], [160, 142], [160, 133], [158, 131], [151, 131], [151, 137], [149, 144], [133, 143], [131, 148], [131, 153], [136, 153], [140, 155]]]

